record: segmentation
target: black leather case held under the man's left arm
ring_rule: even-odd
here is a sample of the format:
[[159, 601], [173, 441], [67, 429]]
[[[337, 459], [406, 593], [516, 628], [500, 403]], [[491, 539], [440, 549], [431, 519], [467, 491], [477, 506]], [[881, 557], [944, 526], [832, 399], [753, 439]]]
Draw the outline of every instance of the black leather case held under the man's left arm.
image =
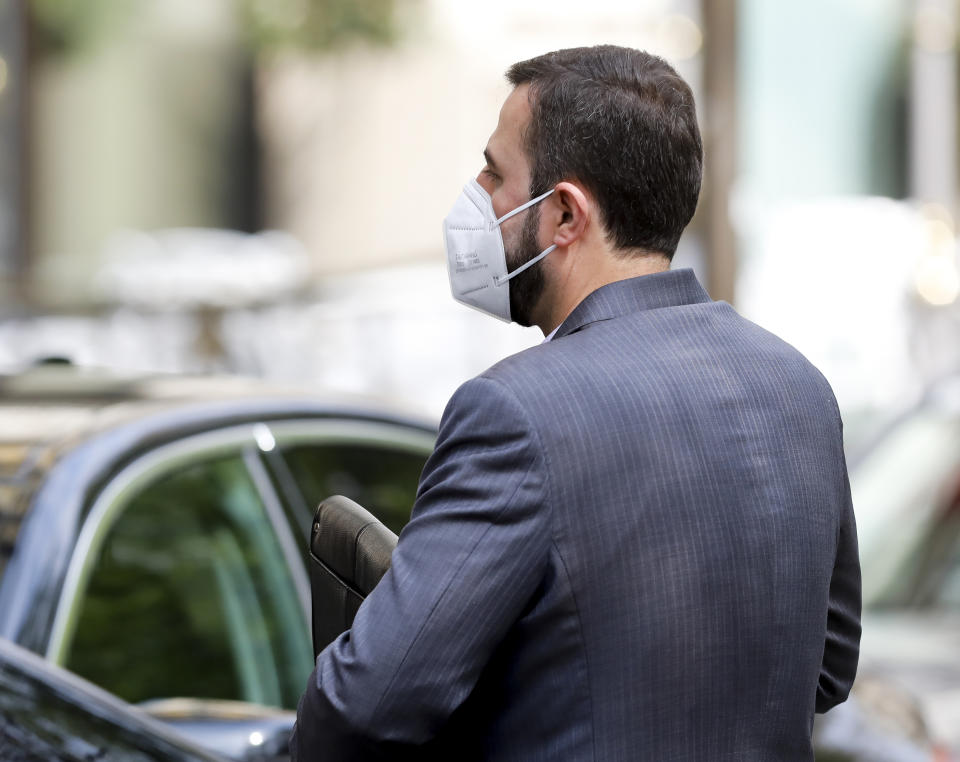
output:
[[390, 568], [397, 536], [342, 495], [317, 508], [310, 532], [313, 655], [350, 629], [363, 599]]

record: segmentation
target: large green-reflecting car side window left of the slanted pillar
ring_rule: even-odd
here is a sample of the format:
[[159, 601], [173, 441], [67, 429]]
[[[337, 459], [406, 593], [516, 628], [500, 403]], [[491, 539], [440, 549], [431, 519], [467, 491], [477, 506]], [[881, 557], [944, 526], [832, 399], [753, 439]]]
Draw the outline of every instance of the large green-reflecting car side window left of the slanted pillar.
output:
[[239, 455], [129, 500], [78, 605], [66, 666], [127, 701], [294, 708], [311, 669], [294, 582]]

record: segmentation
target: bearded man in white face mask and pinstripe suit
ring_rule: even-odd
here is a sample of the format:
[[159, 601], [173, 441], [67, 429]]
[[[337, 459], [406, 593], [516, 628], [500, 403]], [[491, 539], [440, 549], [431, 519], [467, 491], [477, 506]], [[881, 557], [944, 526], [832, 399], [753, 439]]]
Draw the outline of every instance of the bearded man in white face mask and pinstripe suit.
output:
[[392, 567], [318, 657], [293, 749], [811, 760], [860, 634], [833, 394], [668, 270], [701, 169], [673, 69], [603, 46], [508, 79], [445, 223], [451, 285], [549, 341], [451, 399]]

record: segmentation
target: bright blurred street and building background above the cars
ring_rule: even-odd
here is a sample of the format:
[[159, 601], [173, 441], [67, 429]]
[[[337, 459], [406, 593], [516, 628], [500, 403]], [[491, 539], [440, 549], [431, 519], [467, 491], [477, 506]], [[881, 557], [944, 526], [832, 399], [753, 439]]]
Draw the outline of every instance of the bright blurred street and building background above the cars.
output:
[[0, 0], [0, 371], [237, 372], [434, 413], [536, 343], [440, 223], [547, 50], [673, 63], [706, 146], [676, 266], [857, 411], [960, 372], [954, 0]]

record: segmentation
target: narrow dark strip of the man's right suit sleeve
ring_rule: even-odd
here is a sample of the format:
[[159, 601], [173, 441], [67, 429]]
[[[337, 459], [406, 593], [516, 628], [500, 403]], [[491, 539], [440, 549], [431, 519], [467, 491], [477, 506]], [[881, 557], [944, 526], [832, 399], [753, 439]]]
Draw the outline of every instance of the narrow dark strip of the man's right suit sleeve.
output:
[[842, 507], [837, 532], [836, 560], [830, 579], [827, 636], [820, 667], [820, 681], [817, 685], [818, 712], [826, 712], [846, 700], [857, 674], [860, 654], [860, 559], [857, 552], [857, 527], [842, 450], [840, 458], [843, 470], [843, 483], [840, 487]]

